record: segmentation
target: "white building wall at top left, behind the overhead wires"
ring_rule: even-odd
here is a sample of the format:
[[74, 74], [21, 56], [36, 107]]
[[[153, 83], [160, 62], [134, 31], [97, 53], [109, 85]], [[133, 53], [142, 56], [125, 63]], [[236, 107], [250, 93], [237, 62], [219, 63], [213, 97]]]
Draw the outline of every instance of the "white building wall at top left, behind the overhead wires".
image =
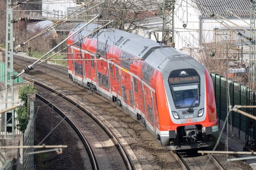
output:
[[[51, 2], [51, 0], [47, 1]], [[42, 16], [56, 17], [56, 19], [60, 19], [63, 15], [67, 15], [68, 7], [78, 6], [78, 4], [71, 0], [52, 1], [52, 3], [47, 1], [42, 2]]]

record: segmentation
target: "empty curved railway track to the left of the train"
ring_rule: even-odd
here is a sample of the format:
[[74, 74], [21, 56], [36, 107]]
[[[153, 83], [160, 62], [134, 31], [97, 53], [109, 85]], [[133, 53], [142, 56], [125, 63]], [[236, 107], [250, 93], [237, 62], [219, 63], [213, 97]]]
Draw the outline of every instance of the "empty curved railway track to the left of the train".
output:
[[[109, 166], [112, 167], [111, 169], [125, 169], [125, 168], [132, 169], [131, 162], [129, 162], [129, 159], [127, 158], [126, 153], [122, 149], [122, 146], [120, 145], [120, 143], [118, 142], [116, 137], [112, 134], [112, 132], [102, 122], [100, 122], [96, 117], [94, 117], [90, 111], [88, 111], [87, 109], [84, 109], [82, 106], [80, 106], [74, 100], [69, 99], [67, 96], [61, 94], [60, 92], [53, 90], [52, 88], [50, 88], [48, 86], [42, 85], [41, 83], [36, 82], [36, 81], [34, 82], [34, 84], [36, 84], [35, 86], [39, 92], [40, 91], [44, 92], [44, 94], [43, 94], [44, 97], [42, 97], [40, 95], [37, 95], [37, 97], [39, 97], [40, 100], [44, 101], [47, 105], [49, 105], [55, 111], [57, 111], [63, 118], [65, 117], [65, 120], [68, 122], [68, 124], [70, 124], [70, 126], [76, 131], [77, 135], [79, 136], [79, 138], [83, 142], [85, 148], [87, 149], [88, 156], [90, 158], [90, 162], [92, 165], [92, 169], [108, 169]], [[47, 89], [49, 92], [46, 92], [45, 89]], [[58, 95], [56, 95], [56, 94], [58, 94]], [[46, 98], [48, 98], [48, 99], [46, 99]], [[58, 102], [56, 102], [56, 101], [58, 101]], [[54, 103], [54, 104], [52, 104], [52, 103]], [[63, 107], [63, 106], [65, 106], [65, 107]], [[71, 108], [72, 111], [68, 110], [67, 108], [68, 109]], [[62, 110], [62, 109], [64, 109], [64, 110]], [[77, 119], [79, 110], [82, 114], [86, 113], [87, 115], [89, 115], [96, 122], [97, 125], [95, 123], [93, 124], [93, 122], [91, 122], [92, 126], [95, 127], [95, 129], [94, 129], [95, 131], [93, 132], [93, 134], [89, 135], [90, 130], [84, 128], [85, 127], [84, 124], [81, 123], [81, 121], [84, 121], [86, 119], [85, 118], [86, 116], [81, 116], [80, 119]], [[64, 112], [66, 112], [66, 114], [64, 114]], [[75, 113], [76, 115], [72, 114], [72, 112]], [[86, 121], [90, 122], [90, 120], [86, 120]], [[100, 128], [102, 128], [106, 132], [106, 134], [102, 134], [103, 130], [98, 129], [98, 127], [97, 127], [98, 125], [100, 126]], [[96, 134], [98, 135], [97, 137], [94, 136]], [[85, 139], [85, 137], [87, 139]], [[100, 140], [100, 139], [102, 139], [102, 140]], [[98, 145], [96, 147], [98, 147], [98, 146], [100, 146], [100, 143], [104, 143], [106, 141], [108, 141], [108, 144], [109, 144], [108, 147], [105, 144], [105, 147], [107, 147], [108, 151], [104, 151], [104, 149], [101, 150], [98, 148], [99, 152], [96, 152], [97, 149], [95, 148], [95, 145], [93, 145], [93, 144], [97, 143]], [[114, 156], [113, 155], [110, 156], [110, 154], [104, 154], [104, 152], [114, 153]], [[118, 156], [118, 153], [120, 154], [120, 156]], [[114, 158], [108, 159], [110, 157], [112, 157], [112, 158], [114, 157], [115, 159]]]

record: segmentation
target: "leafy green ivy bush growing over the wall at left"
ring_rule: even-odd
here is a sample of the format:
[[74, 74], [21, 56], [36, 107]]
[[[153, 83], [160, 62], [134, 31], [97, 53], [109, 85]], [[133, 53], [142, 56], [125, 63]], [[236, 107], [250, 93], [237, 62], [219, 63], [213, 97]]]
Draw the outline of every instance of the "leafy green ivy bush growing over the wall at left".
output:
[[17, 119], [19, 124], [16, 125], [16, 128], [19, 129], [22, 133], [25, 132], [28, 124], [28, 94], [36, 93], [36, 88], [32, 85], [24, 85], [23, 87], [19, 87], [19, 96], [18, 98], [21, 101], [24, 101], [25, 104], [22, 107], [18, 107], [15, 109], [17, 113]]

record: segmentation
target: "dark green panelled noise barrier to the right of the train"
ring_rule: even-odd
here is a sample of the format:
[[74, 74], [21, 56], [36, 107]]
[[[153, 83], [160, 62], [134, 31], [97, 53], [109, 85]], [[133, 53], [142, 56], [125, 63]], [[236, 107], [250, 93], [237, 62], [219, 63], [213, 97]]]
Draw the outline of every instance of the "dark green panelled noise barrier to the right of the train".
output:
[[[219, 76], [218, 74], [211, 74], [212, 82], [215, 92], [215, 101], [217, 116], [219, 120], [225, 121], [227, 116], [227, 79]], [[230, 104], [233, 105], [251, 105], [252, 93], [250, 94], [248, 87], [240, 85], [236, 82], [228, 80], [228, 90]], [[242, 108], [241, 110], [248, 113], [247, 108]], [[238, 114], [237, 112], [232, 111], [230, 114], [231, 121], [228, 122], [229, 125], [232, 125], [234, 128], [238, 129], [244, 134], [247, 134], [247, 118], [244, 115]], [[229, 120], [230, 120], [229, 117]]]

